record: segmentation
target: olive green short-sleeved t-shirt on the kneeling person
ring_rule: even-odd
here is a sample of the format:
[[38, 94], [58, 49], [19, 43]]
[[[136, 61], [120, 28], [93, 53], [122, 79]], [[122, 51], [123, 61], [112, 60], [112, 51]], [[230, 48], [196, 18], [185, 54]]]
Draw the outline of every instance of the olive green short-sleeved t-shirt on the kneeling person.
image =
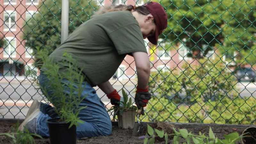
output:
[[65, 51], [78, 58], [85, 81], [93, 87], [107, 82], [126, 54], [147, 53], [139, 23], [130, 11], [108, 12], [84, 22], [50, 58], [59, 62]]

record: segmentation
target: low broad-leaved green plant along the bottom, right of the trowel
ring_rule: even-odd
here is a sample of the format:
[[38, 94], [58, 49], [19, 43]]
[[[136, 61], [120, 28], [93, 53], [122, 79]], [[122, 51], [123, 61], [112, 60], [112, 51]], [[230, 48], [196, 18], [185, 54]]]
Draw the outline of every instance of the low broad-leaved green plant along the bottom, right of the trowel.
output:
[[[148, 125], [148, 124], [147, 124]], [[228, 135], [224, 135], [224, 140], [220, 140], [217, 137], [215, 138], [214, 133], [212, 132], [212, 128], [210, 127], [209, 130], [209, 137], [205, 136], [204, 133], [202, 134], [199, 132], [199, 135], [194, 135], [192, 132], [188, 133], [187, 129], [179, 129], [179, 132], [173, 128], [174, 134], [167, 134], [164, 133], [164, 130], [159, 131], [157, 129], [154, 129], [148, 125], [148, 133], [146, 133], [145, 136], [139, 137], [139, 139], [144, 139], [144, 144], [153, 144], [155, 142], [155, 137], [160, 137], [165, 140], [165, 144], [168, 142], [168, 135], [174, 135], [173, 137], [173, 144], [179, 144], [180, 136], [182, 136], [184, 139], [187, 140], [187, 142], [184, 142], [183, 144], [191, 144], [190, 140], [192, 138], [193, 142], [195, 144], [235, 144], [237, 140], [240, 140], [243, 138], [243, 134], [240, 135], [237, 132], [233, 132]], [[155, 135], [155, 132], [157, 135]], [[148, 135], [149, 134], [149, 135]]]

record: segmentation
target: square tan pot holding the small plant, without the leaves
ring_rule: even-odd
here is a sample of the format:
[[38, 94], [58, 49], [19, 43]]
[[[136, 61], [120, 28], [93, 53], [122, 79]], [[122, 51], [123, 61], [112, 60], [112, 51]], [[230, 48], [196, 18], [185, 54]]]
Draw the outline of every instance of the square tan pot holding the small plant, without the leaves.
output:
[[118, 127], [124, 129], [133, 129], [135, 124], [136, 110], [125, 110], [122, 115], [117, 113]]

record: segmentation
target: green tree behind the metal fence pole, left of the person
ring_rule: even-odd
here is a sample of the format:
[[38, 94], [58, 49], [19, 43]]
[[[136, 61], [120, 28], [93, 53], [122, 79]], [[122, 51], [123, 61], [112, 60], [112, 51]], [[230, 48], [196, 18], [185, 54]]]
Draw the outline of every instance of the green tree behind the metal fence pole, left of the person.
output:
[[[25, 23], [23, 27], [26, 46], [35, 49], [47, 48], [53, 51], [60, 45], [61, 36], [61, 3], [62, 0], [45, 0], [38, 8], [38, 12]], [[98, 8], [96, 1], [69, 1], [69, 34], [83, 22], [89, 20]]]

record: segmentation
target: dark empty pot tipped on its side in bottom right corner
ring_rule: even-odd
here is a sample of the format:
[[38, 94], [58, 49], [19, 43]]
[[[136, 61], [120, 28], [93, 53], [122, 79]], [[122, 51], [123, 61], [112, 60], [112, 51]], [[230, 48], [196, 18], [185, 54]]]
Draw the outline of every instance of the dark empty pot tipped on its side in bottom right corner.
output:
[[244, 133], [247, 133], [243, 135], [244, 138], [242, 138], [242, 142], [244, 144], [256, 144], [256, 127], [249, 127], [247, 129], [244, 130]]

